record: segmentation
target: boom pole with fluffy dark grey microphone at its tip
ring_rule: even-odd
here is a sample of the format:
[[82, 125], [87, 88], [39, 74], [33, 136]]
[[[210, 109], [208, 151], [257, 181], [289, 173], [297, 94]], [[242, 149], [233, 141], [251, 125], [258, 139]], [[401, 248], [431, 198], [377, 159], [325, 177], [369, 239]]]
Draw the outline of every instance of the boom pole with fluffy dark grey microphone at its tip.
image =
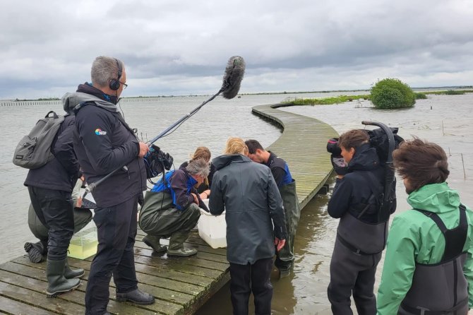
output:
[[[245, 72], [245, 61], [244, 61], [244, 59], [242, 57], [239, 57], [239, 56], [230, 57], [230, 59], [228, 59], [228, 62], [227, 62], [227, 67], [225, 68], [222, 88], [220, 88], [220, 90], [215, 95], [210, 97], [208, 100], [204, 101], [198, 107], [194, 108], [191, 112], [189, 112], [184, 117], [182, 117], [181, 119], [176, 121], [174, 124], [167, 127], [167, 129], [164, 129], [164, 131], [162, 131], [160, 134], [155, 136], [155, 138], [152, 138], [151, 141], [148, 141], [148, 143], [146, 143], [146, 144], [148, 144], [148, 146], [150, 146], [150, 145], [152, 145], [152, 143], [155, 143], [158, 139], [162, 138], [163, 136], [166, 136], [167, 133], [169, 133], [169, 131], [171, 131], [176, 126], [178, 126], [182, 122], [186, 121], [190, 117], [192, 117], [193, 114], [196, 114], [196, 112], [198, 112], [199, 109], [203, 107], [203, 105], [205, 105], [208, 102], [214, 100], [215, 97], [217, 97], [217, 95], [220, 95], [220, 93], [222, 93], [223, 97], [228, 99], [228, 100], [235, 97], [236, 94], [238, 94], [238, 91], [240, 90], [240, 84], [241, 84], [241, 80], [243, 80], [244, 72]], [[128, 164], [128, 163], [129, 162], [127, 162], [126, 164]], [[121, 167], [116, 168], [115, 170], [113, 170], [109, 174], [107, 174], [104, 177], [102, 177], [101, 179], [97, 180], [97, 182], [93, 182], [92, 184], [89, 184], [87, 186], [87, 188], [85, 188], [83, 198], [85, 198], [85, 196], [87, 194], [91, 193], [95, 189], [95, 187], [97, 187], [102, 182], [104, 182], [104, 180], [108, 179], [109, 177], [111, 177], [113, 174], [115, 174], [116, 172], [118, 172], [122, 168], [124, 168], [126, 170], [126, 165], [123, 165]]]

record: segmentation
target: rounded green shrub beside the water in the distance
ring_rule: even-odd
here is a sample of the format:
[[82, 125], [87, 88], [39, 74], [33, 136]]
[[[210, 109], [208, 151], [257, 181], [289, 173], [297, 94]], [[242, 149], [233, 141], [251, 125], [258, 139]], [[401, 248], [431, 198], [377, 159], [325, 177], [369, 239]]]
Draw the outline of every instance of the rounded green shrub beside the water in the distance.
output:
[[371, 102], [379, 109], [413, 107], [416, 95], [412, 88], [395, 78], [385, 78], [371, 88]]

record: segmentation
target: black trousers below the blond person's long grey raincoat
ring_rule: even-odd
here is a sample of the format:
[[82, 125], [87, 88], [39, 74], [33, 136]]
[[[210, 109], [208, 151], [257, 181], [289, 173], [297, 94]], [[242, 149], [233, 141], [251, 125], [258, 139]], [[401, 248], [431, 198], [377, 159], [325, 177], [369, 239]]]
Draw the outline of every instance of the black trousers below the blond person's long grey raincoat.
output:
[[271, 314], [273, 285], [270, 282], [273, 258], [260, 259], [253, 265], [230, 263], [230, 292], [234, 315], [248, 315], [251, 292], [255, 298], [255, 314]]

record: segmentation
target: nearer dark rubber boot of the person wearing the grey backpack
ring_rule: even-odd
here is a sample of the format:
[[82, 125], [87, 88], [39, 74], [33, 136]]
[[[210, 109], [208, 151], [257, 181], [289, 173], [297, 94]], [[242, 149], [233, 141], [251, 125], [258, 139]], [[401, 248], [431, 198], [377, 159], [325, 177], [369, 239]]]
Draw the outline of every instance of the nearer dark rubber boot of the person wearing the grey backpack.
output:
[[61, 293], [69, 292], [80, 285], [79, 279], [66, 279], [64, 277], [64, 265], [66, 258], [59, 261], [46, 261], [47, 291], [46, 297], [56, 297]]

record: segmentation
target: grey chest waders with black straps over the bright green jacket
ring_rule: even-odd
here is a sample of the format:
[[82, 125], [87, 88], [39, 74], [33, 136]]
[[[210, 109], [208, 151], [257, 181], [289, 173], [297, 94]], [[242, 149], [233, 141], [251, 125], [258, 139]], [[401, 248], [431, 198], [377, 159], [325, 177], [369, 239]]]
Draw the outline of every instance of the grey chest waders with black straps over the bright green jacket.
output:
[[468, 222], [465, 206], [460, 204], [460, 224], [448, 230], [436, 213], [415, 209], [431, 218], [445, 237], [445, 251], [439, 263], [416, 263], [412, 285], [398, 314], [467, 314], [468, 284], [463, 273], [467, 253]]

